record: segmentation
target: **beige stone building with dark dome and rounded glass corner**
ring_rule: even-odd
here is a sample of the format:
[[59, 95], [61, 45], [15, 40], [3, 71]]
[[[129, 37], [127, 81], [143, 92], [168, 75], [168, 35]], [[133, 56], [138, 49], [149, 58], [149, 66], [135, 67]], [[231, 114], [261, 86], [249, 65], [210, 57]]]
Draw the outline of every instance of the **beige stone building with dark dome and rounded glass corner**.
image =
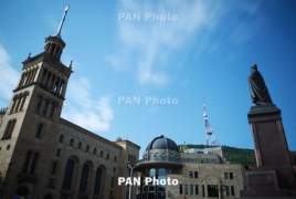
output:
[[[240, 198], [244, 188], [243, 167], [228, 163], [222, 147], [180, 153], [176, 143], [165, 136], [148, 145], [137, 170], [141, 178], [139, 199], [231, 199]], [[147, 178], [156, 180], [146, 182]]]

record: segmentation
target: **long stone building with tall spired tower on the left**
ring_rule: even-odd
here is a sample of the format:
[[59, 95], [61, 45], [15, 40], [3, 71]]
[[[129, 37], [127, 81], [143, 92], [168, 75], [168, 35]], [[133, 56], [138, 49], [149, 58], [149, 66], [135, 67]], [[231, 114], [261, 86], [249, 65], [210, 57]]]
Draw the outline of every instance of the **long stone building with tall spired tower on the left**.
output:
[[117, 179], [129, 175], [127, 163], [136, 163], [140, 147], [61, 118], [73, 71], [60, 61], [66, 45], [60, 33], [23, 62], [10, 104], [0, 111], [0, 198], [126, 198], [128, 187]]

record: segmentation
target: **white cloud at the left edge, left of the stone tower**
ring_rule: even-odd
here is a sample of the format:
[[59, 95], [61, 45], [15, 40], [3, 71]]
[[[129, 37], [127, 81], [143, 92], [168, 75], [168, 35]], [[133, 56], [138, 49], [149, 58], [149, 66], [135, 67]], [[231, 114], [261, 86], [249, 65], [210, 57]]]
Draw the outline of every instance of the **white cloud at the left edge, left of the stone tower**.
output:
[[10, 65], [10, 56], [0, 43], [0, 97], [10, 100], [17, 86], [19, 73]]

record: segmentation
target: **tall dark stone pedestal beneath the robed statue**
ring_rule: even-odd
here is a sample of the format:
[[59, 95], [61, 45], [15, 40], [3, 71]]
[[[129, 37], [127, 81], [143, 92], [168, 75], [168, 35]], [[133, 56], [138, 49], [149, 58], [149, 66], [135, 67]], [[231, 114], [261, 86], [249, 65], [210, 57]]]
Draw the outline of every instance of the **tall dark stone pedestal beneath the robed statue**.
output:
[[245, 172], [241, 198], [296, 198], [293, 170], [281, 109], [274, 104], [253, 106], [247, 114], [257, 167]]

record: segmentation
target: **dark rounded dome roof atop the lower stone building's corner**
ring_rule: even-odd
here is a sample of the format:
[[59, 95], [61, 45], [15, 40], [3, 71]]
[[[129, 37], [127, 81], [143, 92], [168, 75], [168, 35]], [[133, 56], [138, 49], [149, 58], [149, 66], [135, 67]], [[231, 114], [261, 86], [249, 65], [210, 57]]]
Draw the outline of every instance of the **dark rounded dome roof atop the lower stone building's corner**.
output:
[[154, 138], [154, 140], [146, 148], [146, 150], [151, 150], [151, 149], [169, 149], [169, 150], [179, 151], [176, 143], [171, 140], [170, 138], [165, 137], [163, 135], [161, 135], [160, 137]]

